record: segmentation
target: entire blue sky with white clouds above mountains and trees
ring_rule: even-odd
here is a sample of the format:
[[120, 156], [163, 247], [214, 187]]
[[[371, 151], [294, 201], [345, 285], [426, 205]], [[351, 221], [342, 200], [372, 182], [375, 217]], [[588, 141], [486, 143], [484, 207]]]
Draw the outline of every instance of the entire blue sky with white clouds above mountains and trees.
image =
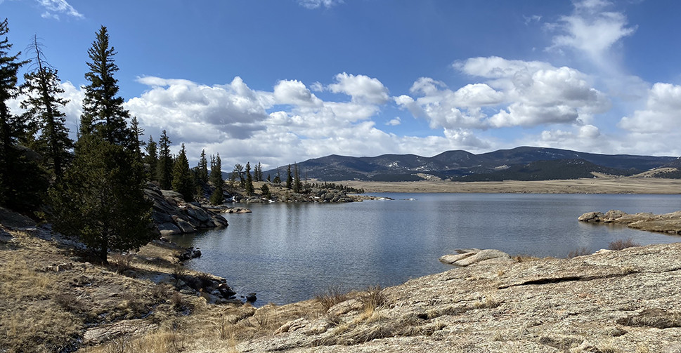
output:
[[[680, 156], [675, 0], [0, 0], [76, 130], [107, 27], [124, 107], [195, 164], [518, 146]], [[25, 72], [30, 66], [23, 67]], [[9, 102], [19, 113], [19, 100]]]

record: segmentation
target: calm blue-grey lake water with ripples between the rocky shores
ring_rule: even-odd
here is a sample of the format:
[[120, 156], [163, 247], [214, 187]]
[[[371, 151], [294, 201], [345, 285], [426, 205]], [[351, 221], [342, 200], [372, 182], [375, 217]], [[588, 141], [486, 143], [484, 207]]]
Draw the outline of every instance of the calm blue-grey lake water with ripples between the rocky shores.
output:
[[[227, 279], [257, 304], [312, 298], [330, 286], [394, 286], [452, 267], [438, 261], [457, 248], [566, 257], [632, 238], [643, 245], [681, 237], [578, 222], [589, 211], [681, 210], [680, 195], [372, 194], [394, 201], [351, 204], [250, 204], [225, 215], [226, 229], [174, 237], [200, 248], [187, 266]], [[408, 200], [413, 199], [413, 200]]]

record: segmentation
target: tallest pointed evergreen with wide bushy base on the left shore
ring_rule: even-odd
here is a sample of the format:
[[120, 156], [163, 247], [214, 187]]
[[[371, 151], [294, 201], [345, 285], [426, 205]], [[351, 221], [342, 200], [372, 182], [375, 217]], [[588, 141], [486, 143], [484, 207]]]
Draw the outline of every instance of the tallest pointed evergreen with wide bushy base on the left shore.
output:
[[74, 235], [107, 261], [108, 251], [139, 248], [153, 239], [151, 203], [142, 191], [145, 176], [136, 133], [116, 96], [113, 48], [101, 27], [88, 50], [90, 84], [85, 100], [75, 157], [62, 182], [51, 189], [53, 226]]

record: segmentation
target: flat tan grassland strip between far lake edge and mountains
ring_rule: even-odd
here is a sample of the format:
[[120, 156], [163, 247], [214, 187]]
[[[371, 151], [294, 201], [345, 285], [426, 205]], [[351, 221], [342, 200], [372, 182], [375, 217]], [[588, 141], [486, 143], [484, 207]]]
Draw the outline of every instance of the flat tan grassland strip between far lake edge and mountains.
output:
[[365, 189], [365, 192], [462, 192], [462, 193], [530, 193], [530, 194], [681, 194], [680, 179], [662, 178], [590, 178], [576, 180], [540, 180], [503, 182], [365, 182], [347, 180], [342, 185]]

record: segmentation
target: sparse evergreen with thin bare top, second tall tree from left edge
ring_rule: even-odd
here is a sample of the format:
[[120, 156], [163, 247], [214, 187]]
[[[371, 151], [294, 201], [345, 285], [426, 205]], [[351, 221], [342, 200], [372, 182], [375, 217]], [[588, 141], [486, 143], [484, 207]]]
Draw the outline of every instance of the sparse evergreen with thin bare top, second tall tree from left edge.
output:
[[33, 37], [31, 50], [35, 56], [34, 69], [24, 75], [22, 93], [26, 95], [21, 107], [24, 121], [31, 121], [30, 135], [39, 133], [30, 147], [43, 156], [44, 166], [54, 173], [57, 179], [63, 176], [65, 166], [71, 159], [69, 150], [73, 141], [69, 138], [65, 116], [61, 109], [68, 100], [59, 98], [64, 93], [60, 86], [57, 70], [45, 60], [37, 37]]

